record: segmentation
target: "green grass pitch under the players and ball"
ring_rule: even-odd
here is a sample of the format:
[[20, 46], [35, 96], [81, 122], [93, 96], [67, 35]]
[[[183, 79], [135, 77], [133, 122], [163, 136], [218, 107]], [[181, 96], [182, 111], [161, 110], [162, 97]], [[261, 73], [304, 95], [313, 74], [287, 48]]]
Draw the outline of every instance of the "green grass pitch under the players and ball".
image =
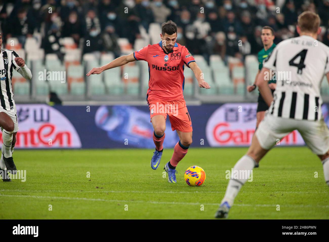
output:
[[[0, 219], [213, 219], [228, 183], [225, 171], [246, 150], [191, 147], [176, 184], [163, 178], [172, 148], [164, 149], [155, 171], [148, 149], [16, 150], [26, 181], [0, 180]], [[183, 179], [192, 165], [206, 172], [201, 187]], [[278, 147], [254, 169], [229, 219], [329, 219], [328, 195], [316, 155], [306, 147]]]

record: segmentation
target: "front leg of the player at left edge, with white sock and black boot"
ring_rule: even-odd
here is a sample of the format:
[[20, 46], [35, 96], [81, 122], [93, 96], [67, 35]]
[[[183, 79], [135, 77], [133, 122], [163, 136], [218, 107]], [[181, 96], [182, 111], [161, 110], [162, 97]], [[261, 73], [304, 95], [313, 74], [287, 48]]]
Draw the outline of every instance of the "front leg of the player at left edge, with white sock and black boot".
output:
[[13, 161], [11, 150], [13, 142], [14, 122], [9, 117], [9, 115], [4, 112], [0, 112], [0, 126], [2, 128], [3, 139], [3, 145], [1, 147], [2, 157], [8, 172], [11, 174], [16, 174], [17, 170]]

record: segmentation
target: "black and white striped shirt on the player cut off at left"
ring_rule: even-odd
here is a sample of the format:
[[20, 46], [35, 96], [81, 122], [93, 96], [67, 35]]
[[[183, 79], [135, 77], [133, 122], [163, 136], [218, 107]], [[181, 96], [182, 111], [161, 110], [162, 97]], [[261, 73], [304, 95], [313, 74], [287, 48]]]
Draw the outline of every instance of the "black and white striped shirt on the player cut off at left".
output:
[[13, 99], [12, 77], [13, 69], [18, 71], [20, 67], [14, 59], [18, 57], [15, 51], [1, 49], [0, 54], [0, 108], [10, 111], [14, 108], [15, 102]]

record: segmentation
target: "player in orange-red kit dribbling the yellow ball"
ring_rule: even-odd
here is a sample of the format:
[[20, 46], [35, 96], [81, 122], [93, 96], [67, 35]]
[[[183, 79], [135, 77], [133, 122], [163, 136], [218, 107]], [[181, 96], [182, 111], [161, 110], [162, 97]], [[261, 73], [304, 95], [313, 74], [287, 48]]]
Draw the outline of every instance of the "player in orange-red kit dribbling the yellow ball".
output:
[[104, 70], [119, 67], [133, 61], [146, 61], [149, 70], [149, 88], [146, 100], [150, 109], [153, 124], [153, 141], [155, 151], [151, 159], [151, 168], [156, 170], [163, 153], [165, 137], [165, 121], [170, 117], [171, 129], [176, 130], [179, 141], [174, 153], [164, 166], [168, 173], [168, 182], [176, 182], [175, 170], [178, 162], [186, 155], [192, 143], [192, 122], [183, 96], [184, 64], [190, 67], [198, 81], [199, 87], [210, 88], [204, 81], [201, 69], [195, 63], [191, 53], [185, 46], [176, 43], [177, 25], [169, 20], [161, 25], [161, 41], [149, 44], [130, 55], [121, 56], [102, 67], [92, 68], [87, 74], [100, 74]]

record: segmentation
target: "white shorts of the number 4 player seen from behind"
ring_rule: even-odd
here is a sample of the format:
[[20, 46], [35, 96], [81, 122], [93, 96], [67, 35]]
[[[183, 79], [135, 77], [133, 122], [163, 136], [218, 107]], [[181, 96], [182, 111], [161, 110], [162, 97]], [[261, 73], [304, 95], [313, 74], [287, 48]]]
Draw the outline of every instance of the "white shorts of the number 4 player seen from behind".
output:
[[293, 130], [303, 137], [306, 145], [317, 155], [329, 150], [329, 130], [323, 117], [320, 121], [294, 120], [274, 117], [268, 112], [260, 122], [255, 135], [263, 149], [271, 149], [277, 142]]

